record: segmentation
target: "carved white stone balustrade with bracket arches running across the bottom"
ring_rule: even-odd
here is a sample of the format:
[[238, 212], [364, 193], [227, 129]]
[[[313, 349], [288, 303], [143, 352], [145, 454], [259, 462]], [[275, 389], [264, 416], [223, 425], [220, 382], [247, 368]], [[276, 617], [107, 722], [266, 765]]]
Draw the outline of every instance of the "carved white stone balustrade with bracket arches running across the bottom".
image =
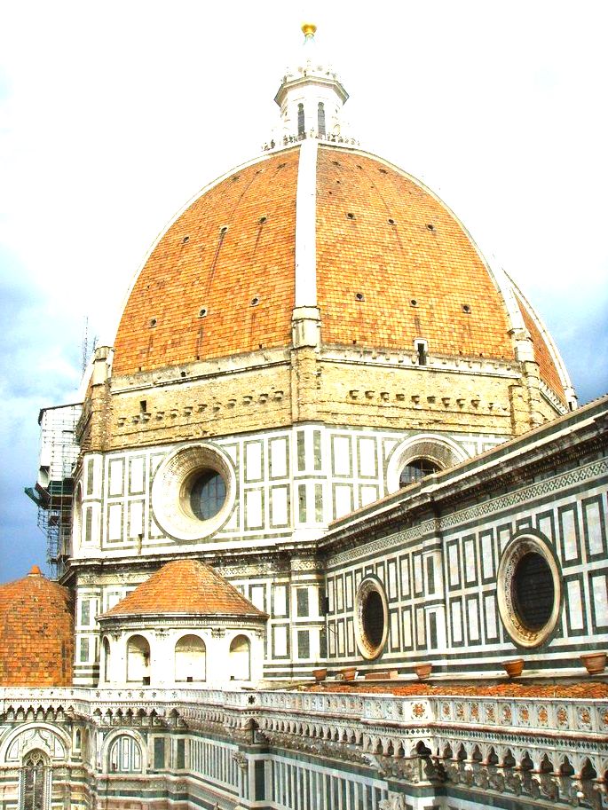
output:
[[[608, 702], [563, 698], [401, 697], [221, 689], [0, 688], [5, 720], [49, 712], [98, 725], [255, 729], [282, 744], [324, 743], [369, 758], [432, 758], [557, 775], [608, 770]], [[576, 740], [576, 746], [572, 742]], [[307, 744], [308, 744], [307, 743]], [[572, 754], [572, 751], [577, 751]]]

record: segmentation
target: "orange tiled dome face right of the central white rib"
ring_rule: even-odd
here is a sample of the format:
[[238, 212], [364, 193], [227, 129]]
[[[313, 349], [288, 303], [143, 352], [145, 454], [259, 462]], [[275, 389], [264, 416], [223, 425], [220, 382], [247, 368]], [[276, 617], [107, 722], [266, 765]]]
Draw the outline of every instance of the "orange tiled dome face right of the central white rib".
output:
[[505, 304], [470, 236], [422, 185], [372, 157], [320, 147], [317, 267], [324, 343], [414, 350], [423, 338], [432, 354], [514, 357]]

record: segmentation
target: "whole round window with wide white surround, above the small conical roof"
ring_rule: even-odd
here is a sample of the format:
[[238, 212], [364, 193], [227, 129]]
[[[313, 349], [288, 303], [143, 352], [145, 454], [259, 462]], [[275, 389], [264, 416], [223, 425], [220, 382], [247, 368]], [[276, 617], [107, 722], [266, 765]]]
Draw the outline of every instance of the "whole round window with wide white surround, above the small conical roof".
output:
[[235, 492], [233, 466], [217, 447], [180, 447], [162, 461], [154, 476], [154, 517], [175, 539], [209, 537], [228, 519]]

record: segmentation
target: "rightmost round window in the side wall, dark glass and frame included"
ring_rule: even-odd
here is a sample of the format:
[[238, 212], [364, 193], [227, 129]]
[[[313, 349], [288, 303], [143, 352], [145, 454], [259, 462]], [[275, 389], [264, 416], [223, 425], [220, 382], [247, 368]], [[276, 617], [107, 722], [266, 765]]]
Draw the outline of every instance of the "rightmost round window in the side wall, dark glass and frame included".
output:
[[560, 604], [559, 570], [548, 543], [533, 535], [513, 539], [498, 567], [498, 607], [510, 637], [537, 647], [555, 628]]

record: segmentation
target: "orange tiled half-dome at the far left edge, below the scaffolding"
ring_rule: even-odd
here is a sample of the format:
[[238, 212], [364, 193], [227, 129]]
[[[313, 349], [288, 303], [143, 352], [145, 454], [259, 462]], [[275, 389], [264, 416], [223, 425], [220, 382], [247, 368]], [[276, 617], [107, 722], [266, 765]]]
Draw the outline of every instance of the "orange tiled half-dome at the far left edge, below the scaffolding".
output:
[[0, 686], [68, 686], [74, 617], [67, 588], [43, 577], [0, 586]]

